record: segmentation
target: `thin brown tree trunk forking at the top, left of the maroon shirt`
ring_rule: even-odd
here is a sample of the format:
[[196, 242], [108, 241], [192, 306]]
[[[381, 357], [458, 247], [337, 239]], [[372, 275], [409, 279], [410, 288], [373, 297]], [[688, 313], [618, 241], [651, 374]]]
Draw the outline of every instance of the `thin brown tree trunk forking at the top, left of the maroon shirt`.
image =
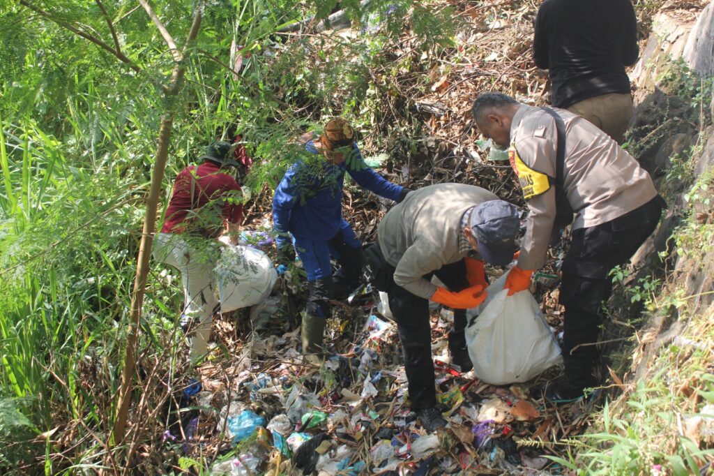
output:
[[[146, 2], [141, 1], [144, 9], [149, 12], [150, 7]], [[164, 91], [166, 103], [171, 103], [171, 98], [178, 95], [183, 84], [183, 75], [186, 72], [186, 59], [188, 58], [188, 46], [196, 39], [198, 29], [201, 28], [202, 6], [196, 8], [193, 16], [191, 31], [188, 32], [188, 39], [183, 46], [180, 56], [176, 57], [174, 71], [171, 74], [171, 84]], [[151, 13], [149, 14], [151, 16]], [[159, 23], [158, 17], [151, 17], [155, 23]], [[161, 26], [157, 25], [159, 30]], [[166, 39], [168, 32], [164, 34]], [[170, 38], [170, 36], [169, 36]], [[172, 48], [173, 40], [167, 41], [169, 48]], [[175, 48], [175, 44], [173, 45]], [[170, 107], [170, 106], [169, 106]], [[151, 244], [154, 241], [154, 226], [156, 224], [156, 209], [159, 204], [161, 194], [161, 184], [164, 182], [164, 169], [166, 169], [166, 159], [169, 157], [169, 143], [171, 142], [171, 129], [174, 127], [174, 114], [166, 111], [161, 118], [161, 128], [159, 129], [159, 146], [154, 157], [154, 169], [151, 172], [151, 189], [146, 200], [146, 212], [144, 214], [144, 231], [141, 233], [141, 244], [139, 245], [139, 258], [136, 262], [136, 278], [134, 279], [134, 291], [131, 293], [131, 309], [129, 314], [129, 332], [126, 336], [126, 347], [124, 354], [124, 368], [121, 371], [121, 387], [119, 388], [119, 402], [117, 403], [116, 420], [114, 420], [114, 430], [112, 431], [111, 442], [119, 445], [125, 437], [126, 419], [129, 415], [129, 404], [131, 403], [131, 382], [134, 380], [136, 370], [136, 341], [139, 339], [139, 322], [141, 321], [141, 307], [144, 304], [144, 292], [146, 291], [146, 277], [149, 275], [149, 260], [151, 259]]]

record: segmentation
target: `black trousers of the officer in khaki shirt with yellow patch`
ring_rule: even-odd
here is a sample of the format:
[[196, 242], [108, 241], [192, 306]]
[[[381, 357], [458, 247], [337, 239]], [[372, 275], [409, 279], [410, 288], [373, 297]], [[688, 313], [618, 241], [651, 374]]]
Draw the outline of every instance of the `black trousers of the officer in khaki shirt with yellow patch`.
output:
[[[655, 228], [666, 206], [659, 195], [622, 217], [576, 229], [563, 260], [560, 304], [565, 307], [563, 357], [566, 377], [588, 380], [598, 360], [597, 342], [604, 301], [612, 292], [610, 269], [635, 254]], [[569, 375], [568, 375], [569, 374]]]

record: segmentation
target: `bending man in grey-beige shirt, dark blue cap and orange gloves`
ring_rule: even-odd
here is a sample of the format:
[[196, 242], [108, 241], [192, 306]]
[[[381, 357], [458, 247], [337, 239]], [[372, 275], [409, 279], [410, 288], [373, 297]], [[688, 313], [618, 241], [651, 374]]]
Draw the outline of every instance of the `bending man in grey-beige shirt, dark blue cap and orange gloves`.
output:
[[[448, 344], [461, 370], [473, 365], [466, 349], [466, 309], [486, 299], [484, 262], [508, 264], [520, 228], [518, 210], [481, 187], [436, 184], [411, 192], [393, 207], [366, 249], [374, 287], [389, 295], [397, 322], [409, 400], [428, 431], [446, 425], [436, 410], [428, 302], [454, 309]], [[436, 275], [446, 285], [432, 284]]]

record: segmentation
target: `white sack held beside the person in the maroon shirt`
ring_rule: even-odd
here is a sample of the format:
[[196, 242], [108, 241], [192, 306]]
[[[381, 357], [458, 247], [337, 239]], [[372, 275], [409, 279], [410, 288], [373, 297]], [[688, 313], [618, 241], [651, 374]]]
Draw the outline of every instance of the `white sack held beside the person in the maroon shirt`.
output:
[[278, 279], [267, 254], [232, 244], [221, 250], [215, 272], [221, 312], [258, 304], [268, 297]]

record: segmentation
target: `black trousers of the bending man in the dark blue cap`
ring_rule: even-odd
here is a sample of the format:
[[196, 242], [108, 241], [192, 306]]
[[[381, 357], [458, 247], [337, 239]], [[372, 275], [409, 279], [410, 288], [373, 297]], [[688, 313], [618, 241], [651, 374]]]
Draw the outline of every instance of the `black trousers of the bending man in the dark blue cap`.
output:
[[[431, 355], [431, 322], [428, 299], [408, 292], [394, 282], [394, 267], [384, 259], [378, 244], [366, 250], [368, 277], [380, 291], [389, 294], [389, 308], [397, 322], [402, 343], [404, 367], [409, 385], [409, 400], [413, 410], [436, 406], [434, 362]], [[432, 274], [452, 291], [468, 287], [466, 264], [463, 259], [446, 264]], [[432, 274], [425, 276], [431, 279]], [[466, 310], [454, 310], [454, 328], [450, 334], [455, 340], [462, 339], [466, 329]]]

